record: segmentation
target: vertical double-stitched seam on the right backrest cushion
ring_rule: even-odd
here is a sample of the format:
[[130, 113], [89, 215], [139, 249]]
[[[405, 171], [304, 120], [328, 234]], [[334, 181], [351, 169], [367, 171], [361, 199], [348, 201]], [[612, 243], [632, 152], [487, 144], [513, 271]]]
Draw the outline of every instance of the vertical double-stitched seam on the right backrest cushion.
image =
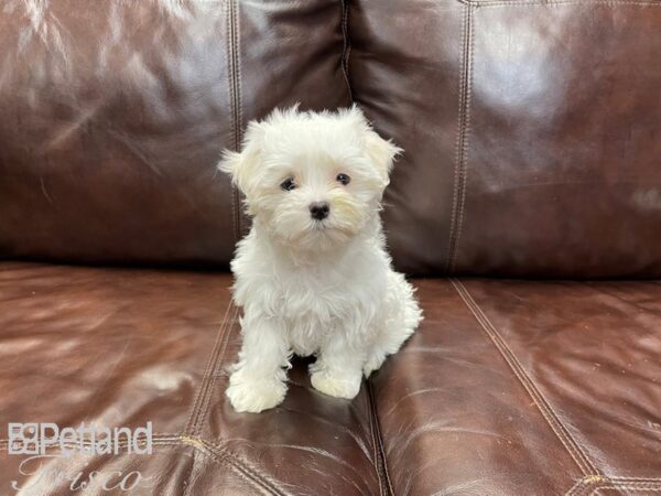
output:
[[466, 4], [463, 14], [462, 68], [459, 75], [459, 103], [455, 152], [454, 193], [449, 219], [449, 240], [445, 271], [452, 273], [455, 266], [458, 237], [462, 230], [466, 188], [466, 147], [470, 119], [470, 79], [473, 74], [473, 7]]

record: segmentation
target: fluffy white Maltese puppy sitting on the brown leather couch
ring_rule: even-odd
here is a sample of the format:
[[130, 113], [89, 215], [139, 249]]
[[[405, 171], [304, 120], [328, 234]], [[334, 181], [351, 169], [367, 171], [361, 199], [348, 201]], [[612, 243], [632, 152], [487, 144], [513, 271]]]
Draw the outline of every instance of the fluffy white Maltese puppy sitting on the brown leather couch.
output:
[[293, 354], [315, 355], [312, 386], [351, 399], [413, 333], [422, 312], [391, 268], [379, 212], [394, 157], [357, 108], [274, 110], [219, 164], [252, 217], [231, 271], [242, 346], [227, 396], [275, 407]]

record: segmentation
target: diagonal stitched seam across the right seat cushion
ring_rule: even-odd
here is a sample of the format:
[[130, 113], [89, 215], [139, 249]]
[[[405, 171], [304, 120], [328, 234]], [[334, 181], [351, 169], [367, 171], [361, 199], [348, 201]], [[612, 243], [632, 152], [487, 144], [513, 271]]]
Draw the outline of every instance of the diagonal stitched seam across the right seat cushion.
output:
[[519, 363], [517, 356], [507, 346], [500, 334], [489, 321], [487, 315], [481, 311], [477, 302], [473, 299], [466, 287], [456, 279], [451, 279], [451, 282], [468, 310], [473, 313], [481, 328], [485, 331], [487, 336], [491, 339], [496, 348], [500, 352], [500, 355], [505, 358], [510, 369], [514, 373], [514, 376], [519, 379], [523, 388], [528, 391], [533, 402], [542, 413], [542, 417], [546, 420], [546, 423], [555, 435], [560, 439], [562, 444], [565, 446], [574, 462], [578, 465], [584, 475], [598, 474], [599, 471], [595, 468], [590, 460], [583, 452], [578, 443], [574, 440], [572, 434], [567, 431], [564, 424], [557, 418], [555, 411], [551, 408], [549, 402], [545, 400], [541, 391], [535, 387], [534, 382], [528, 377], [522, 365]]

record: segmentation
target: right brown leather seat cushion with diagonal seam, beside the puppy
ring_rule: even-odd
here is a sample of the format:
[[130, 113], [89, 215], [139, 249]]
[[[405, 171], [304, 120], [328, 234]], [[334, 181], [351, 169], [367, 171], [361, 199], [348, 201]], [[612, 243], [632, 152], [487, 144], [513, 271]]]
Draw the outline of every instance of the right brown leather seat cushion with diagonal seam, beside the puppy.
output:
[[373, 379], [393, 494], [661, 490], [661, 284], [418, 280]]

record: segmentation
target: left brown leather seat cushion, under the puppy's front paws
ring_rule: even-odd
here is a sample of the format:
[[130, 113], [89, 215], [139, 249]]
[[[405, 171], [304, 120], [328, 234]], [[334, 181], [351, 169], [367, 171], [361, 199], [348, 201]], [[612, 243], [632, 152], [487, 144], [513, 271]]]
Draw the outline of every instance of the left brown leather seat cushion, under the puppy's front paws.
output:
[[[354, 401], [326, 397], [297, 363], [281, 407], [241, 414], [226, 401], [240, 345], [230, 283], [225, 273], [0, 265], [0, 494], [14, 481], [26, 495], [73, 494], [71, 479], [93, 470], [141, 471], [141, 495], [308, 494], [312, 481], [378, 494], [366, 389]], [[153, 455], [29, 461], [22, 471], [41, 474], [30, 477], [19, 472], [28, 455], [7, 451], [8, 422], [148, 421]]]

